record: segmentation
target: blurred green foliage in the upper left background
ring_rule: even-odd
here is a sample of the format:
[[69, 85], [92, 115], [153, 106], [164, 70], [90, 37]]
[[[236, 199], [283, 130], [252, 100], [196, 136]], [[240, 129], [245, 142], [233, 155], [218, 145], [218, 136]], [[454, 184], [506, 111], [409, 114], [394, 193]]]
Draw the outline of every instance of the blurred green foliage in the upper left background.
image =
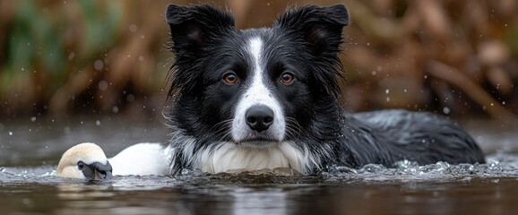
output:
[[[50, 90], [56, 90], [70, 73], [66, 69], [70, 68], [67, 56], [71, 49], [82, 50], [74, 54], [81, 56], [79, 64], [91, 64], [92, 58], [113, 47], [122, 12], [114, 1], [103, 3], [79, 1], [80, 14], [71, 15], [55, 5], [42, 8], [38, 1], [20, 1], [14, 8], [11, 29], [6, 31], [8, 42], [0, 91], [34, 90], [41, 83], [30, 82], [33, 73], [39, 73], [51, 86]], [[105, 6], [106, 10], [99, 10], [99, 6]], [[84, 26], [84, 33], [77, 35], [81, 38], [74, 39], [79, 43], [66, 44], [66, 32], [82, 31], [77, 26]]]

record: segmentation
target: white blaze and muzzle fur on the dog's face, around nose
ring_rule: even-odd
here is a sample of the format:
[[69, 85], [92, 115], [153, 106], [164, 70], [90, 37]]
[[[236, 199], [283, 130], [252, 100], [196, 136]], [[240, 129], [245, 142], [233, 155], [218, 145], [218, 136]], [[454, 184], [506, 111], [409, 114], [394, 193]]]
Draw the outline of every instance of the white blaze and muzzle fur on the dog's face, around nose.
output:
[[285, 125], [284, 113], [280, 102], [272, 95], [272, 91], [266, 86], [267, 73], [264, 71], [263, 40], [252, 38], [248, 41], [247, 51], [251, 56], [251, 79], [248, 81], [248, 89], [245, 90], [237, 103], [236, 112], [232, 121], [232, 137], [234, 141], [241, 142], [253, 131], [246, 125], [246, 110], [255, 105], [270, 107], [273, 111], [273, 124], [263, 133], [273, 140], [284, 139]]

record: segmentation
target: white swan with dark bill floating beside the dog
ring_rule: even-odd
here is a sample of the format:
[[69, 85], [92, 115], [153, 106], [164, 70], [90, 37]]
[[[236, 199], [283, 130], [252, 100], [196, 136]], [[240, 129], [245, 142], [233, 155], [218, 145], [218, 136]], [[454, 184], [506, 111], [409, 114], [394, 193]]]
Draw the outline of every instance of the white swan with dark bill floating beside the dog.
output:
[[89, 180], [168, 173], [167, 156], [160, 143], [138, 143], [108, 159], [97, 144], [84, 142], [66, 150], [57, 165], [57, 176]]

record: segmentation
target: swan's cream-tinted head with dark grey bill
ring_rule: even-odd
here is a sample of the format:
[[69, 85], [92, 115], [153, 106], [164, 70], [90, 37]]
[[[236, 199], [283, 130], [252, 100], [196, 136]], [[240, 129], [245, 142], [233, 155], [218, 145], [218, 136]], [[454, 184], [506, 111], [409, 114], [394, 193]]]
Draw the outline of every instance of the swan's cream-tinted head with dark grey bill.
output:
[[104, 151], [95, 143], [77, 144], [65, 151], [57, 165], [57, 176], [104, 180], [112, 177]]

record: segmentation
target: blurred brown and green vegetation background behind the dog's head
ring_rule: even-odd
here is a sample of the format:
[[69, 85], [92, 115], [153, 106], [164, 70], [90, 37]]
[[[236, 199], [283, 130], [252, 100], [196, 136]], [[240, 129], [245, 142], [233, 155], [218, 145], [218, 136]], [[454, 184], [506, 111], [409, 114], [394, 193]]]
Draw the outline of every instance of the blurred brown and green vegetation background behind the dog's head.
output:
[[[0, 123], [39, 116], [162, 117], [167, 4], [213, 3], [237, 27], [289, 5], [345, 4], [342, 103], [453, 118], [518, 114], [518, 1], [0, 1]], [[0, 124], [1, 125], [1, 124]]]

